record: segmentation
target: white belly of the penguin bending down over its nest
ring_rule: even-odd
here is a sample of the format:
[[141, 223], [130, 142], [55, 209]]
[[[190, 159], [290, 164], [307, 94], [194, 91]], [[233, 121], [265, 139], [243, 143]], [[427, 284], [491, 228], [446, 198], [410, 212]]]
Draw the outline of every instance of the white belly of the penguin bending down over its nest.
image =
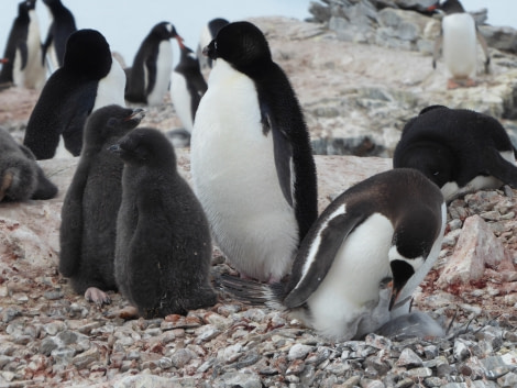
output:
[[391, 276], [393, 233], [392, 222], [374, 213], [343, 241], [327, 276], [307, 300], [311, 324], [322, 335], [350, 340], [360, 321], [373, 313], [381, 280]]

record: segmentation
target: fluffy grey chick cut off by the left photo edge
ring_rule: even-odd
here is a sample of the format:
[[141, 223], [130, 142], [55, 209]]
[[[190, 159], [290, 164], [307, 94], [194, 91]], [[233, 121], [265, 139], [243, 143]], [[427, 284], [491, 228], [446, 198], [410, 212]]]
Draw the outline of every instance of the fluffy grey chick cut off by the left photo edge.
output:
[[56, 193], [32, 152], [0, 128], [0, 201], [51, 199]]

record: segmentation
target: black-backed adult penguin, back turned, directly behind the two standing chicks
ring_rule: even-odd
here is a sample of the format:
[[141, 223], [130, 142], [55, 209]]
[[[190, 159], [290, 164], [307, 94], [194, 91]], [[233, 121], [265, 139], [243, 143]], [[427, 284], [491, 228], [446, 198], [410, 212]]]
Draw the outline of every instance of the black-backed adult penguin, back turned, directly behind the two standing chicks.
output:
[[25, 130], [23, 144], [37, 159], [54, 157], [63, 135], [66, 149], [80, 154], [88, 115], [107, 104], [124, 106], [125, 76], [106, 38], [95, 30], [70, 35], [65, 62], [45, 84]]

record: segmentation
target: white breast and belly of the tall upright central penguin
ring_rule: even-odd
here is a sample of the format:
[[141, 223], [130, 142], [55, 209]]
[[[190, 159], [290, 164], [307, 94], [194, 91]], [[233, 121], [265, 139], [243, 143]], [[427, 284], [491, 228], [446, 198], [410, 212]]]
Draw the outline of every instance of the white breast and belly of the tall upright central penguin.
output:
[[216, 241], [237, 269], [261, 280], [285, 275], [298, 226], [278, 182], [273, 134], [263, 133], [254, 82], [222, 59], [196, 113], [191, 170]]

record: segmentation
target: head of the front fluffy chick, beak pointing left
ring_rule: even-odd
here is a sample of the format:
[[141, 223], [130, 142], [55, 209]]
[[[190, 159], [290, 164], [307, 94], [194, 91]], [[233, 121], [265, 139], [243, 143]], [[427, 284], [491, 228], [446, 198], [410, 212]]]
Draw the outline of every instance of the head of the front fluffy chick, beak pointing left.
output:
[[176, 166], [173, 145], [155, 129], [138, 128], [110, 147], [124, 163], [133, 166]]

